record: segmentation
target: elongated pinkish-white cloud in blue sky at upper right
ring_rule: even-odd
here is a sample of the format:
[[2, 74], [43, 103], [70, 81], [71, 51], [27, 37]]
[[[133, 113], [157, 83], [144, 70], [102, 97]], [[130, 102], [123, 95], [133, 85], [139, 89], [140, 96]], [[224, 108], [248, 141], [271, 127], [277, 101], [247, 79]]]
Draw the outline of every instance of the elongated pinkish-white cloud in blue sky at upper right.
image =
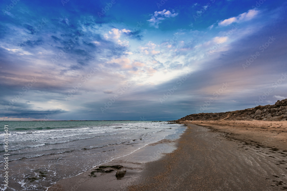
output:
[[220, 21], [218, 23], [219, 26], [227, 26], [230, 25], [231, 23], [240, 23], [242, 21], [248, 21], [250, 19], [253, 19], [257, 14], [259, 13], [258, 10], [253, 10], [250, 9], [249, 11], [242, 13], [240, 15], [238, 15], [237, 17], [231, 17], [229, 19], [225, 19], [223, 21]]

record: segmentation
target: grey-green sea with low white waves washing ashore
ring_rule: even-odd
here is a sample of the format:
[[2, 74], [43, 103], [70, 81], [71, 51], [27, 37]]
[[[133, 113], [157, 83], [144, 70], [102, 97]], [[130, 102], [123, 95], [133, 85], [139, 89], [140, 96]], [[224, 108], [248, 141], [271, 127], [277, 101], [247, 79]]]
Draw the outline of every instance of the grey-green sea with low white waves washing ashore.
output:
[[[8, 152], [4, 125], [9, 125]], [[1, 185], [1, 190], [46, 190], [178, 131], [182, 125], [151, 121], [0, 121], [3, 180], [4, 154], [9, 154], [9, 188]]]

